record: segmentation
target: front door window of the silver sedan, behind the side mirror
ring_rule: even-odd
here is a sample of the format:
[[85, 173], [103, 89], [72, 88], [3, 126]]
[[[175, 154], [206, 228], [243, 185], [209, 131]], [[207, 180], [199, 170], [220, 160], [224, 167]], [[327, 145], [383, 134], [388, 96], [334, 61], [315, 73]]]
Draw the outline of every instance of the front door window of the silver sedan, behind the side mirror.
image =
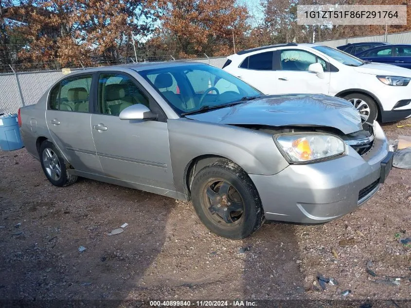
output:
[[98, 80], [99, 112], [118, 116], [134, 104], [149, 106], [147, 96], [126, 75], [101, 74]]

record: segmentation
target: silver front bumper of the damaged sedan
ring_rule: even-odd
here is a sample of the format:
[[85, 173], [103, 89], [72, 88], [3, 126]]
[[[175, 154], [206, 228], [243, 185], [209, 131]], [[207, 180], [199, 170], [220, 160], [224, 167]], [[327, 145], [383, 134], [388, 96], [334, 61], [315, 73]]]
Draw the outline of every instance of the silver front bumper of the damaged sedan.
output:
[[250, 174], [266, 218], [320, 223], [341, 217], [370, 199], [380, 186], [381, 162], [388, 143], [377, 122], [373, 148], [362, 157], [348, 146], [347, 155], [321, 163], [290, 164], [271, 175]]

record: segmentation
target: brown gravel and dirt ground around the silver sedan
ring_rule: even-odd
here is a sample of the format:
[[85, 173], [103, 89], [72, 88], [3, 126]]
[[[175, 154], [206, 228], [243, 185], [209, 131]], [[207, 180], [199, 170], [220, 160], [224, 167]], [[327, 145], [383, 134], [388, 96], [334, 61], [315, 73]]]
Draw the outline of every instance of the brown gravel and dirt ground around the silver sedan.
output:
[[[384, 125], [387, 137], [411, 136], [404, 124]], [[190, 202], [87, 179], [54, 187], [24, 148], [0, 152], [0, 175], [1, 299], [411, 300], [409, 279], [374, 281], [411, 277], [397, 240], [411, 236], [410, 170], [345, 217], [267, 222], [244, 240], [210, 234]], [[322, 290], [318, 274], [338, 284]]]

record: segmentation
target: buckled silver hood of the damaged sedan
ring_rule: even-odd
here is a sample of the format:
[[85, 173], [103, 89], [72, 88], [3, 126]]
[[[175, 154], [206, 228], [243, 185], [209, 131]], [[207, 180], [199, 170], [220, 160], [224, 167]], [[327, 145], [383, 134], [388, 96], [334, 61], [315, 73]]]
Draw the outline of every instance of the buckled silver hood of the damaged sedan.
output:
[[232, 125], [334, 127], [344, 134], [362, 129], [359, 113], [350, 102], [322, 94], [267, 95], [186, 118]]

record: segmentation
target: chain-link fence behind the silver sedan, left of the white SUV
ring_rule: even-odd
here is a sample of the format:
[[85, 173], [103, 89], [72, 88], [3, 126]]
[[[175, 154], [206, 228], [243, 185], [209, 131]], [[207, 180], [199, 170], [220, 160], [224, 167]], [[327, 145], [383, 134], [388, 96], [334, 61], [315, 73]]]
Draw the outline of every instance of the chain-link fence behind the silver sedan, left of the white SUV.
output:
[[[173, 61], [173, 57], [167, 57]], [[162, 57], [161, 60], [165, 60]], [[184, 59], [186, 61], [186, 59]], [[206, 57], [187, 59], [207, 63], [222, 68], [226, 57]], [[83, 68], [71, 68], [71, 72], [83, 70]], [[59, 78], [63, 76], [63, 70], [39, 71], [39, 72], [13, 72], [0, 74], [0, 114], [16, 113], [22, 106], [36, 104], [40, 97]]]

